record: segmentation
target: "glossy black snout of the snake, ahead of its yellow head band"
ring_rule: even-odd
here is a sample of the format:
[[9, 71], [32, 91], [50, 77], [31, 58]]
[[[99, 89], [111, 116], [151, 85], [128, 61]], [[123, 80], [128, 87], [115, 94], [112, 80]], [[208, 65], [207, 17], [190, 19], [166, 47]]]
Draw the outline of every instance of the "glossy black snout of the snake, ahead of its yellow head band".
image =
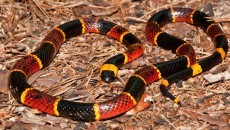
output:
[[101, 73], [101, 80], [106, 83], [111, 83], [115, 80], [115, 74], [113, 71], [110, 70], [104, 70]]

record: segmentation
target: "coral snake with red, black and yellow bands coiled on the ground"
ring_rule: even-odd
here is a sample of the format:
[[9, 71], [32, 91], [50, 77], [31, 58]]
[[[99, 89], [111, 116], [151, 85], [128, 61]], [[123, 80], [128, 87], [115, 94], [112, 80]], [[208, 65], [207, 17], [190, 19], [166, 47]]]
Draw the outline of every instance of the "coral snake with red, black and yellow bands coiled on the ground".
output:
[[[54, 28], [33, 53], [17, 61], [9, 76], [12, 96], [20, 103], [44, 113], [72, 120], [105, 120], [132, 109], [145, 91], [145, 87], [160, 79], [162, 94], [181, 104], [169, 91], [168, 86], [207, 71], [222, 62], [228, 51], [228, 41], [218, 23], [209, 21], [208, 15], [190, 8], [169, 8], [153, 15], [146, 24], [145, 35], [154, 45], [172, 50], [179, 58], [144, 67], [131, 75], [124, 90], [114, 99], [99, 103], [72, 102], [43, 93], [27, 83], [30, 75], [47, 67], [60, 46], [69, 38], [85, 33], [99, 33], [122, 42], [128, 49], [108, 59], [100, 69], [104, 82], [112, 82], [118, 69], [143, 54], [143, 46], [136, 36], [123, 27], [98, 18], [83, 18]], [[214, 42], [215, 52], [196, 62], [195, 51], [186, 41], [171, 36], [161, 27], [174, 22], [186, 22], [200, 27]]]

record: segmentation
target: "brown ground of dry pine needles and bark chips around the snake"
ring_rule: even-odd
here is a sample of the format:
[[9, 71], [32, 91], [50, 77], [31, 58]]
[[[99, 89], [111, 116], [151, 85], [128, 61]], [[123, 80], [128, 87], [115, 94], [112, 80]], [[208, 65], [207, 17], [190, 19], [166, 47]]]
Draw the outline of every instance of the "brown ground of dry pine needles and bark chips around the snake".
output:
[[[159, 10], [197, 8], [221, 22], [230, 38], [229, 0], [0, 0], [0, 129], [9, 130], [152, 130], [230, 129], [230, 55], [201, 75], [171, 86], [182, 107], [163, 97], [160, 82], [148, 85], [141, 110], [134, 109], [105, 121], [79, 122], [54, 117], [23, 106], [10, 95], [7, 75], [15, 62], [33, 52], [48, 32], [80, 17], [100, 17], [135, 34], [145, 54], [119, 71], [118, 79], [100, 84], [99, 68], [109, 57], [126, 48], [99, 34], [86, 34], [63, 44], [54, 61], [35, 73], [29, 83], [54, 96], [78, 102], [101, 102], [118, 95], [136, 70], [176, 58], [170, 51], [151, 45], [145, 38], [146, 21]], [[214, 46], [200, 29], [175, 23], [164, 27], [170, 34], [190, 42], [198, 59], [212, 54]]]

